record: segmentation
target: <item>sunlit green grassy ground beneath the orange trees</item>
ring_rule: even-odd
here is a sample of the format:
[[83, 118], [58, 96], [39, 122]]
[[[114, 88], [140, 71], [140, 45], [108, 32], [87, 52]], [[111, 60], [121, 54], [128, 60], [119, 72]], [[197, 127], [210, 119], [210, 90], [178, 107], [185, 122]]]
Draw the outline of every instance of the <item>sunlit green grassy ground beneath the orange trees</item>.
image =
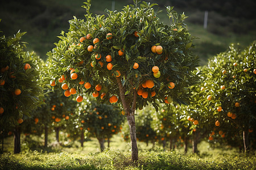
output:
[[[79, 141], [72, 147], [56, 145], [53, 135], [50, 135], [49, 146], [44, 149], [43, 139], [32, 137], [24, 145], [22, 135], [22, 152], [13, 154], [12, 137], [6, 139], [6, 151], [0, 157], [0, 169], [255, 169], [255, 155], [243, 156], [238, 150], [229, 147], [212, 148], [207, 142], [199, 145], [200, 154], [192, 154], [189, 145], [188, 154], [183, 148], [163, 150], [159, 143], [138, 142], [139, 162], [130, 162], [129, 143], [123, 142], [121, 135], [115, 135], [110, 148], [100, 152], [96, 139], [92, 138], [80, 147]], [[29, 144], [34, 143], [35, 146]], [[63, 142], [64, 144], [64, 142]], [[31, 145], [36, 150], [30, 150]], [[105, 143], [106, 145], [106, 143]], [[30, 147], [31, 147], [30, 146]]]

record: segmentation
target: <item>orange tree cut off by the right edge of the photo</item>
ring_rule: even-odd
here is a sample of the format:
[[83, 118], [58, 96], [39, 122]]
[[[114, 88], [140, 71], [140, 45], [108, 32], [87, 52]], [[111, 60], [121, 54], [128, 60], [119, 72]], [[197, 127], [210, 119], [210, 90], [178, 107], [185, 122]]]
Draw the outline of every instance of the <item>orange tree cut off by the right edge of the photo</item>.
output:
[[[244, 150], [249, 151], [249, 133], [255, 130], [256, 42], [245, 50], [230, 45], [225, 53], [210, 59], [205, 75], [205, 96], [216, 128], [235, 124], [242, 131]], [[226, 129], [229, 130], [229, 129]]]

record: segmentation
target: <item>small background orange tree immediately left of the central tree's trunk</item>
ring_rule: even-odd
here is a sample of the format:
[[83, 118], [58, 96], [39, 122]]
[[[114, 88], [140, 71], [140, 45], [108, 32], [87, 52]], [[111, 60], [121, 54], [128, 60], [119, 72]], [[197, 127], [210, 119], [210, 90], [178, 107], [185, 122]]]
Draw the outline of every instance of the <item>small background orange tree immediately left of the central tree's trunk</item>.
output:
[[106, 104], [97, 104], [95, 101], [83, 102], [77, 108], [77, 112], [80, 117], [78, 121], [80, 130], [86, 129], [88, 135], [96, 137], [101, 151], [105, 148], [105, 138], [110, 139], [117, 134], [125, 120], [125, 117], [120, 115], [119, 109]]

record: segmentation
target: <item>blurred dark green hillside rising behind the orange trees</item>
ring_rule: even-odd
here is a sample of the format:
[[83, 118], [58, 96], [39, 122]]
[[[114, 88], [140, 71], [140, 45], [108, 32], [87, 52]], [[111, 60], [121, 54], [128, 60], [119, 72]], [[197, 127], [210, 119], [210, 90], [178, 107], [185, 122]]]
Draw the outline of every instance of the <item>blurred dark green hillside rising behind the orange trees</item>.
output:
[[[85, 9], [81, 6], [85, 0], [13, 0], [0, 2], [0, 29], [6, 36], [14, 32], [27, 31], [24, 41], [28, 42], [28, 50], [34, 50], [41, 58], [47, 59], [46, 53], [59, 41], [57, 36], [61, 30], [67, 32], [68, 20], [76, 16], [85, 19]], [[217, 53], [224, 52], [232, 42], [240, 42], [245, 47], [256, 39], [256, 1], [252, 0], [148, 0], [158, 3], [159, 18], [164, 23], [168, 20], [165, 6], [175, 6], [179, 13], [185, 12], [189, 18], [187, 23], [192, 36], [199, 37], [194, 43], [194, 52], [199, 55], [201, 65]], [[92, 0], [91, 12], [105, 14], [105, 8], [120, 10], [133, 3], [132, 0]], [[208, 27], [204, 29], [204, 14], [208, 11]]]

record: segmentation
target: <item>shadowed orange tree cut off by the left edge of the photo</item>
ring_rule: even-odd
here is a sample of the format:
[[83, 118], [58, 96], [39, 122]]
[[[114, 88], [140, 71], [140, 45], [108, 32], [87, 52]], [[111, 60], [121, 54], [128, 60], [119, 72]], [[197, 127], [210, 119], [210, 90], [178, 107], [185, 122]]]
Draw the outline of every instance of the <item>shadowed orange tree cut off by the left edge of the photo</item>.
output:
[[0, 37], [0, 127], [15, 126], [14, 152], [20, 152], [20, 126], [23, 114], [43, 104], [40, 86], [38, 56], [24, 51], [26, 45], [20, 41], [23, 33], [14, 37]]

